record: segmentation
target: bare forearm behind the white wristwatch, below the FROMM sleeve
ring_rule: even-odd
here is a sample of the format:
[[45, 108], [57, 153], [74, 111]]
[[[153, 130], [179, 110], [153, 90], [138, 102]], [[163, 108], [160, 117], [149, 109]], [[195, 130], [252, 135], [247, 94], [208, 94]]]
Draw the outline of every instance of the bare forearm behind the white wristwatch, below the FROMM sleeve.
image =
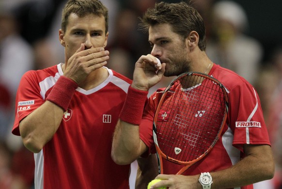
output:
[[[251, 153], [231, 168], [210, 173], [212, 188], [226, 189], [246, 186], [273, 177], [274, 163], [271, 148], [268, 145], [252, 146]], [[254, 153], [252, 153], [254, 152]]]

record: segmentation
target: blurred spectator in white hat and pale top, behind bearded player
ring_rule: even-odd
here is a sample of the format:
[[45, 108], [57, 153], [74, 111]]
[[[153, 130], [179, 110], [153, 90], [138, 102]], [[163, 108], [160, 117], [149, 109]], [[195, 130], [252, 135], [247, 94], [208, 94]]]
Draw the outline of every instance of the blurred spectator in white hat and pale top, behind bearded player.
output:
[[207, 55], [253, 84], [264, 51], [259, 41], [246, 34], [245, 11], [234, 1], [222, 0], [214, 4], [213, 16], [214, 36], [208, 41]]

